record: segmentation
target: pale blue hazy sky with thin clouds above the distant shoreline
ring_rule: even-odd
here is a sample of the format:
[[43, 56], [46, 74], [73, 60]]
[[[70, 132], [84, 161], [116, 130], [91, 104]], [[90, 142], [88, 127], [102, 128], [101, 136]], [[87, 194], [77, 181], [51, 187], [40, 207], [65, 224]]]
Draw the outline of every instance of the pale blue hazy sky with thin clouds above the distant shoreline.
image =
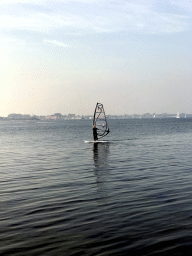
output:
[[192, 113], [191, 0], [1, 0], [0, 116]]

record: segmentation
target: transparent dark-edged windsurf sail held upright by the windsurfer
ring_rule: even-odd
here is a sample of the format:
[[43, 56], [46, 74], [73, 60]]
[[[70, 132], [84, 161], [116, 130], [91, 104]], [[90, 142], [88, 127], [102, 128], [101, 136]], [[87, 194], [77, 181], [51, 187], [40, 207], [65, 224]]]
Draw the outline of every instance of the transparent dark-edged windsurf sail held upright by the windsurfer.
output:
[[93, 126], [97, 128], [97, 138], [100, 139], [109, 133], [105, 110], [103, 104], [97, 103], [93, 116]]

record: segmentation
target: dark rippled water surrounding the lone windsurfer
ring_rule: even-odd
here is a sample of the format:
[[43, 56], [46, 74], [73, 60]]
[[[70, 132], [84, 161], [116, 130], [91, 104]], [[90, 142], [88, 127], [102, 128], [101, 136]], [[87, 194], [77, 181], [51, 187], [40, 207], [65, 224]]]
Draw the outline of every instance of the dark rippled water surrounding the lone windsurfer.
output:
[[0, 255], [191, 255], [192, 120], [0, 122]]

